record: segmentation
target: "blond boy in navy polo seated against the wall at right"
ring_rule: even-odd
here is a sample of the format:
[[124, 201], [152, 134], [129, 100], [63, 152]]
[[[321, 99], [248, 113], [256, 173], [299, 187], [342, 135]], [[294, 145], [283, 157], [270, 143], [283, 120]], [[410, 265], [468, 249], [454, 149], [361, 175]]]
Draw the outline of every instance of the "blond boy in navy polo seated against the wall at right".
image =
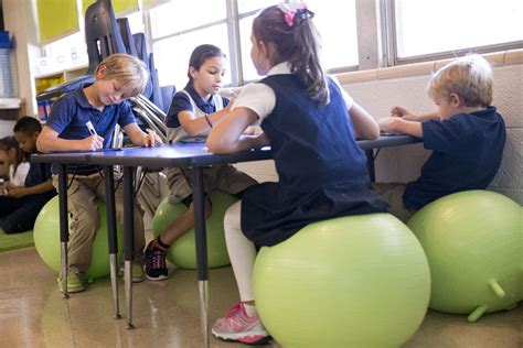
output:
[[414, 211], [442, 196], [484, 189], [494, 178], [505, 144], [505, 126], [492, 102], [492, 69], [479, 55], [458, 58], [438, 70], [428, 94], [438, 111], [412, 115], [394, 107], [378, 121], [387, 132], [423, 138], [433, 150], [421, 175], [408, 184], [373, 184], [391, 213], [407, 221]]

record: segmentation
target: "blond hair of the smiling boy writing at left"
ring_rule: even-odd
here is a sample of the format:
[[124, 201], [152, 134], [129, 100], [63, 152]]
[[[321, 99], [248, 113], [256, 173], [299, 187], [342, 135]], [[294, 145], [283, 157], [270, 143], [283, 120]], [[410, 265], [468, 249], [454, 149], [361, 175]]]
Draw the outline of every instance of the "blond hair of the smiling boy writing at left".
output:
[[116, 79], [125, 86], [131, 87], [131, 96], [136, 97], [143, 91], [149, 80], [146, 63], [128, 54], [116, 53], [106, 57], [95, 69], [95, 76], [100, 66], [105, 66], [103, 80]]

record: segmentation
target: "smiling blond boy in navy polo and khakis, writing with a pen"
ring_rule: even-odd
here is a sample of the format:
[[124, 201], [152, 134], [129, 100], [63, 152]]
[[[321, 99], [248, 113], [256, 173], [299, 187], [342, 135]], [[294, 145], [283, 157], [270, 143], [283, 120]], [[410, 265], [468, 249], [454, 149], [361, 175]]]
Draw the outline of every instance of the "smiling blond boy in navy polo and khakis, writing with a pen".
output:
[[[127, 133], [136, 145], [153, 146], [161, 142], [154, 133], [147, 134], [136, 123], [135, 116], [125, 100], [140, 94], [148, 79], [143, 62], [127, 54], [113, 54], [95, 69], [95, 81], [84, 85], [58, 99], [51, 109], [42, 133], [38, 139], [39, 150], [92, 151], [108, 149], [116, 124]], [[90, 123], [88, 123], [90, 122]], [[87, 124], [92, 124], [92, 132]], [[72, 182], [67, 189], [71, 214], [68, 243], [67, 291], [85, 290], [84, 275], [90, 265], [93, 240], [100, 227], [96, 198], [106, 199], [102, 168], [93, 165], [70, 166]], [[57, 188], [57, 176], [53, 176]], [[124, 220], [124, 189], [115, 192], [118, 222]], [[143, 210], [135, 203], [135, 263], [132, 281], [143, 276]]]

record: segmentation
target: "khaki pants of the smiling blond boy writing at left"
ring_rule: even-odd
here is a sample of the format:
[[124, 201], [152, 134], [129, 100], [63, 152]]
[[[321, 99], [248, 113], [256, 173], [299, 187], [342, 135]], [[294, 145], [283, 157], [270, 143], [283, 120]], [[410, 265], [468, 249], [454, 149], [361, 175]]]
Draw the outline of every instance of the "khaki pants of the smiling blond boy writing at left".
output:
[[[68, 177], [72, 178], [72, 175]], [[58, 177], [53, 175], [53, 185], [58, 191]], [[124, 185], [115, 192], [116, 219], [124, 224]], [[100, 227], [96, 198], [106, 200], [105, 181], [98, 174], [76, 175], [67, 189], [70, 213], [68, 267], [75, 272], [86, 272], [90, 265], [93, 241]], [[135, 262], [143, 263], [143, 210], [135, 200]]]

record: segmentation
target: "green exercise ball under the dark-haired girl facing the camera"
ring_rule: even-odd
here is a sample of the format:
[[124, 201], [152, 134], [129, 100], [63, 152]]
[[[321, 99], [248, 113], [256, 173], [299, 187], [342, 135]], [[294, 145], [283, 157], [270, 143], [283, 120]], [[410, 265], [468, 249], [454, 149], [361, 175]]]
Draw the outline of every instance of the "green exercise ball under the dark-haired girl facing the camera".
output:
[[[225, 235], [223, 231], [223, 216], [227, 208], [237, 199], [228, 194], [215, 191], [211, 194], [213, 211], [205, 222], [207, 235], [209, 268], [217, 268], [231, 263], [228, 260]], [[152, 233], [158, 237], [177, 217], [185, 213], [188, 207], [182, 203], [171, 204], [164, 198], [158, 206], [152, 219]], [[169, 248], [167, 259], [182, 269], [196, 269], [196, 247], [194, 229], [180, 237]]]

